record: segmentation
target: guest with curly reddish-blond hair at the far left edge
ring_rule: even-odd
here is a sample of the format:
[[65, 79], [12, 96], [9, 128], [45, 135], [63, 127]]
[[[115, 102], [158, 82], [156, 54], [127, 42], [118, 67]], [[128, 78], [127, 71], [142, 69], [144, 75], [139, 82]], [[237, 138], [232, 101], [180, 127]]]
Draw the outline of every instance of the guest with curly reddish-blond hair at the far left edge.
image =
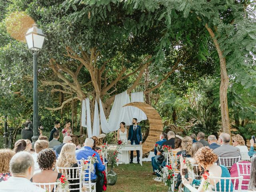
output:
[[10, 149], [0, 149], [0, 182], [6, 181], [11, 175], [9, 163], [15, 152]]

